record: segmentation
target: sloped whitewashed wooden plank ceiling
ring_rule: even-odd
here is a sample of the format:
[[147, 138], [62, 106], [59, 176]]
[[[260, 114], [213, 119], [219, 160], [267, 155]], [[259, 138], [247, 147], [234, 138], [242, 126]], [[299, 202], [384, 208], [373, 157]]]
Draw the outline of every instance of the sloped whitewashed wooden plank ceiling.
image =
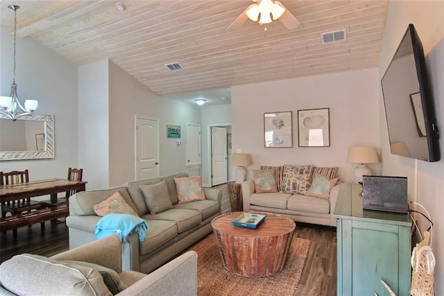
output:
[[[74, 64], [110, 59], [159, 96], [377, 67], [388, 1], [281, 0], [300, 21], [228, 26], [251, 0], [1, 1], [1, 25]], [[346, 30], [322, 44], [321, 33]], [[179, 62], [180, 71], [165, 64]]]

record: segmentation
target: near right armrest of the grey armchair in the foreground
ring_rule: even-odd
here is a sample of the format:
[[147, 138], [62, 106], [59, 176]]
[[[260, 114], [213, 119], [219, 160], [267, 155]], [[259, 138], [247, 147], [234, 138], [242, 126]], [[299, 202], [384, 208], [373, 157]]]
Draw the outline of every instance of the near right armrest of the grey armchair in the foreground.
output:
[[186, 252], [129, 286], [119, 296], [197, 295], [197, 253]]

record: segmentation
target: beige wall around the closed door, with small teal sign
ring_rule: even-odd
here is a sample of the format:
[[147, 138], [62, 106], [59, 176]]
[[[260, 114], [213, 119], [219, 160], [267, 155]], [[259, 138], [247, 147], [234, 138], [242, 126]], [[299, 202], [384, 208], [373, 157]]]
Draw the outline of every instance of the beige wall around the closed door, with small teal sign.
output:
[[[110, 186], [135, 179], [135, 116], [159, 119], [159, 175], [185, 172], [186, 126], [200, 124], [197, 105], [160, 98], [133, 76], [109, 62]], [[167, 124], [182, 127], [182, 144], [167, 138]]]

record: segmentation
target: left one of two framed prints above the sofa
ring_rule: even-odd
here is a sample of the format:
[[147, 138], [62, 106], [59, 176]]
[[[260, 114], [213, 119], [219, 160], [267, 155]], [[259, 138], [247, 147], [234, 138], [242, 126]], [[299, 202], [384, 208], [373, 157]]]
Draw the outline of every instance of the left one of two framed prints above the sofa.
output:
[[264, 147], [293, 147], [293, 113], [264, 113]]

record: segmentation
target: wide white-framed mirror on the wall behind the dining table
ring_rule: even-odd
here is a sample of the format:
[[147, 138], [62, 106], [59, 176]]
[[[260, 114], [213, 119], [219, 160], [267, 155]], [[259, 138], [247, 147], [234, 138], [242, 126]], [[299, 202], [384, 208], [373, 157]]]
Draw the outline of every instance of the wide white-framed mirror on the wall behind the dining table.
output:
[[0, 160], [54, 158], [54, 116], [31, 114], [12, 121], [0, 114]]

